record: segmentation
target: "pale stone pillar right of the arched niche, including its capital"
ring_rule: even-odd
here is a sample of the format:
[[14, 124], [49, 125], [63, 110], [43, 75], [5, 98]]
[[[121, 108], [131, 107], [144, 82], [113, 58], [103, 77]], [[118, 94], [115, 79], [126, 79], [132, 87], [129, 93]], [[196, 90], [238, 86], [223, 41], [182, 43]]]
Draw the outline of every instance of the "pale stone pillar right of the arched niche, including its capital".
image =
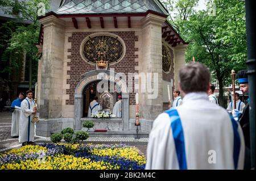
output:
[[[142, 119], [154, 120], [163, 111], [163, 86], [162, 86], [162, 24], [166, 18], [148, 14], [141, 20], [142, 22], [142, 47], [141, 58], [139, 61], [139, 73], [152, 73], [151, 82], [153, 83], [153, 73], [158, 74], [158, 95], [150, 99], [147, 83], [141, 86], [146, 88], [146, 92], [139, 91], [140, 112]], [[151, 86], [153, 87], [153, 86]], [[143, 106], [142, 106], [143, 105]]]

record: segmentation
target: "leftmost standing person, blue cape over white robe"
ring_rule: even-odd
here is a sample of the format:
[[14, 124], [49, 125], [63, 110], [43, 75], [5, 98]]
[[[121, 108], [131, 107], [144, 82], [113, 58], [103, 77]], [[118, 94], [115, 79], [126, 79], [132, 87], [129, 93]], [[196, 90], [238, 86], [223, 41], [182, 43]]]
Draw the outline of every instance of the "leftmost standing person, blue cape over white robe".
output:
[[20, 118], [20, 103], [24, 98], [24, 93], [20, 92], [19, 97], [11, 103], [10, 111], [13, 112], [11, 117], [11, 137], [19, 137], [19, 118]]

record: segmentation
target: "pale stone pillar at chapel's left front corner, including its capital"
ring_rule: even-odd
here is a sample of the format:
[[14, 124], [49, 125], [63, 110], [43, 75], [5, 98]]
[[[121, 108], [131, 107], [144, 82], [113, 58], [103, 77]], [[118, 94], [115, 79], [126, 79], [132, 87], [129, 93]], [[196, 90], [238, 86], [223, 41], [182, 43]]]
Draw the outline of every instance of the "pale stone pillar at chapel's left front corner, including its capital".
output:
[[39, 113], [42, 119], [61, 117], [65, 23], [55, 16], [40, 20], [44, 28]]

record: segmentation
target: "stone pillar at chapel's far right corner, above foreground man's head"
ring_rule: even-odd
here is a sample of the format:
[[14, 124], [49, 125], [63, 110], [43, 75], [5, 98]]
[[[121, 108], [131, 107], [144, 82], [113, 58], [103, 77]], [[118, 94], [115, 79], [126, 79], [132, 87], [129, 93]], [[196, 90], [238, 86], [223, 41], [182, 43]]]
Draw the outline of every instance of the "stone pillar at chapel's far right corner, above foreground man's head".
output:
[[187, 45], [178, 45], [174, 50], [174, 86], [175, 89], [179, 89], [179, 70], [181, 66], [185, 65], [185, 51]]

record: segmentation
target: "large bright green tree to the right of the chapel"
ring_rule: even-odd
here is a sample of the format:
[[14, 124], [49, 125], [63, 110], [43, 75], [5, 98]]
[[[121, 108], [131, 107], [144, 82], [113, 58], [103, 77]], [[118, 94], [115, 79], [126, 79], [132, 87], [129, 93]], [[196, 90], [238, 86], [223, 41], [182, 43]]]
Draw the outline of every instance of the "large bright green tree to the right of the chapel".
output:
[[[246, 68], [245, 2], [209, 0], [208, 10], [199, 12], [194, 10], [196, 0], [165, 0], [163, 3], [169, 11], [176, 10], [170, 23], [189, 42], [186, 61], [196, 57], [196, 61], [208, 66], [212, 80], [218, 80], [220, 106], [224, 107], [223, 88], [231, 82], [231, 70]], [[214, 9], [213, 13], [209, 7]]]

